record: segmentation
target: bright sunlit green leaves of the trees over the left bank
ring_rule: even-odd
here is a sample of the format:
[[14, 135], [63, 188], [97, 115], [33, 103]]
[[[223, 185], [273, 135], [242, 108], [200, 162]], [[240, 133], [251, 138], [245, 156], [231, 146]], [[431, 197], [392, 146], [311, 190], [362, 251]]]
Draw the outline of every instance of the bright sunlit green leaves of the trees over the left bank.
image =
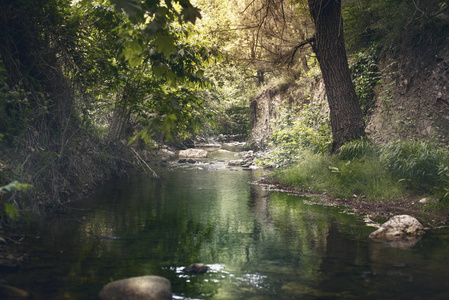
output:
[[[144, 22], [136, 13], [128, 15], [128, 20], [99, 4], [85, 3], [77, 8], [83, 11], [88, 7], [94, 13], [86, 17], [101, 18], [100, 22], [93, 21], [94, 26], [85, 40], [88, 44], [82, 44], [84, 48], [89, 47], [86, 53], [92, 55], [82, 62], [88, 68], [83, 74], [95, 74], [92, 79], [96, 79], [87, 77], [84, 85], [103, 103], [115, 98], [114, 106], [106, 104], [102, 112], [105, 118], [112, 113], [110, 138], [131, 135], [131, 142], [139, 139], [150, 142], [152, 138], [162, 141], [194, 134], [209, 115], [199, 94], [210, 86], [204, 78], [203, 67], [218, 52], [198, 40], [193, 27], [185, 24], [195, 21], [192, 16], [184, 18], [189, 11], [186, 7], [191, 6], [188, 1], [180, 1], [181, 7], [167, 3], [167, 9], [136, 3], [139, 9], [154, 14], [155, 18]], [[121, 4], [119, 8], [130, 13], [130, 7]], [[92, 39], [98, 48], [91, 49]], [[106, 53], [105, 47], [109, 47]], [[98, 59], [103, 63], [98, 65]], [[94, 107], [87, 111], [85, 118], [98, 118], [98, 112]]]

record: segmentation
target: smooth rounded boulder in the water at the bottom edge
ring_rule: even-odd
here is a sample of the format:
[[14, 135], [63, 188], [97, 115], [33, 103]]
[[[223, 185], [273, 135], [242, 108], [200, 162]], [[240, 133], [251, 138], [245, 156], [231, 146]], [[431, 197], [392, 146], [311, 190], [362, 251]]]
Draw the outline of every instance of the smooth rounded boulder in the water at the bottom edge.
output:
[[108, 283], [100, 291], [102, 300], [171, 300], [168, 279], [159, 276], [142, 276]]

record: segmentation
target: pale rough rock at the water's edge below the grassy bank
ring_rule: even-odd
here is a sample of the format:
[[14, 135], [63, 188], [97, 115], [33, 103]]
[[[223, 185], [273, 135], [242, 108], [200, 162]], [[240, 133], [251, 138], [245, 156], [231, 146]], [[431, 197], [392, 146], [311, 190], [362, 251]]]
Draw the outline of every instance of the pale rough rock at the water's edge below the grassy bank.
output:
[[393, 240], [420, 237], [423, 234], [424, 227], [417, 219], [408, 215], [399, 215], [382, 224], [369, 237], [377, 240]]

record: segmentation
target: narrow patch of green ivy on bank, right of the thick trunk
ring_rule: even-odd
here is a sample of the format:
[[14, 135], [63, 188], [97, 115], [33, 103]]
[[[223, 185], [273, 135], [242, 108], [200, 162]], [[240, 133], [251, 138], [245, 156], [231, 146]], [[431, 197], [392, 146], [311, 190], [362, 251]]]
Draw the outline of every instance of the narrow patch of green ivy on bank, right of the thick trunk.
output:
[[350, 71], [355, 92], [359, 99], [364, 117], [374, 109], [374, 88], [380, 81], [378, 58], [374, 46], [354, 54], [351, 58]]

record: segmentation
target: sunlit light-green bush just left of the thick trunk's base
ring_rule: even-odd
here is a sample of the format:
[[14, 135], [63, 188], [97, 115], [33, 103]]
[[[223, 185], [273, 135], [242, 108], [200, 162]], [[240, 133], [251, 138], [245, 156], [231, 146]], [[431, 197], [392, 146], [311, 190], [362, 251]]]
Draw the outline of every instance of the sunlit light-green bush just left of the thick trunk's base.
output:
[[287, 166], [300, 160], [300, 153], [304, 150], [326, 153], [332, 140], [329, 121], [321, 111], [322, 106], [322, 103], [311, 103], [304, 105], [299, 112], [284, 107], [281, 112], [283, 117], [276, 121], [270, 137], [273, 149], [263, 163], [276, 167]]

